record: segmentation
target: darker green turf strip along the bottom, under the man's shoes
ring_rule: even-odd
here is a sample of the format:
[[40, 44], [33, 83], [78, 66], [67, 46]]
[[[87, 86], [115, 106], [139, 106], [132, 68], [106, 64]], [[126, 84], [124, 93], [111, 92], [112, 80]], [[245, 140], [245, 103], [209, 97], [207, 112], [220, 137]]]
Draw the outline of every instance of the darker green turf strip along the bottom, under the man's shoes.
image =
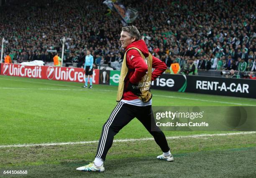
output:
[[26, 177], [255, 177], [255, 153], [256, 147], [247, 147], [175, 154], [174, 162], [152, 156], [110, 158], [105, 162], [104, 173], [76, 170], [88, 164], [88, 160], [65, 160], [58, 165], [46, 163], [5, 170], [28, 170]]

